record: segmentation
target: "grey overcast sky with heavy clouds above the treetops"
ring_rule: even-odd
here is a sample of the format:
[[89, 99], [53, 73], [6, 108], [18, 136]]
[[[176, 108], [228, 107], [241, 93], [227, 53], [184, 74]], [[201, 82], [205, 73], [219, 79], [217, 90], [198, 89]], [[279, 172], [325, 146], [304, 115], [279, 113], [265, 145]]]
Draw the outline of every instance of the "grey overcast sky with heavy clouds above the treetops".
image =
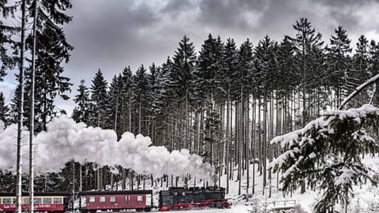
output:
[[[329, 43], [330, 34], [342, 25], [356, 47], [364, 34], [379, 41], [379, 0], [74, 0], [68, 14], [74, 20], [64, 26], [75, 49], [65, 75], [87, 86], [100, 68], [108, 80], [130, 65], [163, 63], [187, 35], [200, 50], [208, 33], [235, 39], [237, 45], [249, 38], [253, 44], [268, 34], [280, 41], [293, 36], [292, 25], [307, 17]], [[14, 72], [0, 83], [9, 100], [15, 85]], [[57, 101], [69, 113], [72, 100]]]

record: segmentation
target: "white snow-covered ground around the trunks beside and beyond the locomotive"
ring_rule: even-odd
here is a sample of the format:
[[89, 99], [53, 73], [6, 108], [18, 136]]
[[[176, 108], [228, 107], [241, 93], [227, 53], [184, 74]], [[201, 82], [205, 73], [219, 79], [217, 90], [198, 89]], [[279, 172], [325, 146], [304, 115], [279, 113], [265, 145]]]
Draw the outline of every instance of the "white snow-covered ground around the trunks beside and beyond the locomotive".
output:
[[[371, 174], [379, 174], [379, 155], [376, 155], [375, 158], [369, 157], [368, 155], [365, 156], [363, 159], [363, 163], [365, 163], [368, 168], [370, 168]], [[250, 165], [250, 171], [252, 171], [252, 164]], [[257, 171], [255, 174], [255, 194], [252, 193], [252, 177], [249, 178], [250, 186], [249, 186], [249, 195], [246, 196], [246, 186], [247, 186], [247, 179], [246, 179], [246, 171], [243, 176], [243, 179], [241, 181], [241, 195], [238, 195], [238, 181], [236, 180], [237, 171], [234, 172], [235, 178], [234, 180], [229, 181], [229, 194], [226, 195], [226, 198], [229, 199], [229, 202], [231, 203], [231, 209], [208, 209], [208, 210], [189, 210], [185, 211], [186, 213], [205, 213], [205, 212], [215, 212], [215, 213], [244, 213], [244, 212], [255, 212], [255, 210], [258, 210], [257, 212], [270, 212], [271, 209], [274, 207], [274, 202], [277, 202], [279, 200], [287, 200], [290, 203], [292, 200], [295, 200], [296, 202], [296, 209], [295, 212], [307, 212], [307, 213], [313, 213], [313, 207], [316, 205], [317, 201], [321, 198], [322, 192], [319, 191], [313, 191], [310, 189], [307, 189], [307, 191], [304, 194], [301, 194], [300, 191], [296, 191], [292, 195], [283, 196], [282, 191], [280, 191], [277, 187], [277, 174], [274, 173], [272, 175], [271, 179], [271, 197], [269, 197], [269, 188], [270, 188], [270, 181], [267, 181], [267, 186], [265, 187], [265, 194], [263, 195], [263, 175], [259, 175], [259, 172]], [[252, 176], [250, 174], [250, 176]], [[198, 182], [196, 186], [203, 186], [204, 183]], [[146, 186], [149, 186], [149, 182], [146, 182]], [[193, 186], [193, 180], [189, 180], [188, 182], [189, 186]], [[178, 186], [183, 186], [183, 181], [179, 180]], [[221, 187], [226, 187], [226, 175], [223, 175], [221, 177]], [[280, 187], [280, 184], [279, 184]], [[136, 188], [136, 186], [135, 186]], [[140, 186], [141, 188], [141, 186]], [[146, 189], [149, 189], [148, 187]], [[166, 183], [163, 183], [163, 187], [154, 186], [153, 191], [155, 193], [154, 195], [154, 204], [158, 204], [158, 191], [160, 190], [167, 190]], [[351, 199], [351, 204], [349, 205], [348, 212], [360, 212], [360, 211], [352, 211], [361, 209], [364, 210], [368, 207], [370, 204], [378, 204], [379, 205], [379, 188], [376, 186], [372, 186], [371, 183], [367, 182], [365, 185], [362, 186], [354, 186], [353, 187], [353, 197]], [[293, 204], [290, 204], [293, 205]], [[339, 210], [342, 210], [341, 207]], [[337, 209], [338, 210], [338, 209]], [[175, 212], [181, 212], [181, 211], [175, 211]], [[184, 211], [183, 211], [184, 212]], [[363, 211], [362, 211], [363, 212]]]

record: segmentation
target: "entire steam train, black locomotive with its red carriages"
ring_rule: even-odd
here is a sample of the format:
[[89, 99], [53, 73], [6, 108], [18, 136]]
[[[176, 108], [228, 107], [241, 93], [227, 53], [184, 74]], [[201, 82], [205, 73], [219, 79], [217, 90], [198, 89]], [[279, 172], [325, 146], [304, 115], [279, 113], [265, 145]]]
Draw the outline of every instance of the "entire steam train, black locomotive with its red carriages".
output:
[[[29, 194], [21, 197], [22, 210], [29, 209]], [[81, 191], [77, 194], [79, 204], [72, 204], [72, 193], [34, 193], [34, 210], [63, 213], [70, 210], [79, 210], [82, 213], [96, 213], [96, 211], [120, 211], [135, 209], [136, 211], [150, 211], [153, 205], [152, 190], [135, 191]], [[230, 208], [225, 197], [225, 189], [217, 187], [202, 188], [169, 188], [159, 192], [159, 211], [186, 209], [186, 208]], [[14, 193], [0, 193], [0, 212], [16, 210]]]

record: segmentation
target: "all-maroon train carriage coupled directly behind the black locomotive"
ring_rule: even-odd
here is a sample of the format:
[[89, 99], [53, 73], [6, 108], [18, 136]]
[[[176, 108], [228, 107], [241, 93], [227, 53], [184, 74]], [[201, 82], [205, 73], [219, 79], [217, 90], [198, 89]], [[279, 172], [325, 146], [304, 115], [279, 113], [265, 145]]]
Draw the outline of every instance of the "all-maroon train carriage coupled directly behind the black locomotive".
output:
[[153, 191], [82, 191], [78, 193], [80, 211], [95, 213], [97, 210], [150, 211], [153, 207]]

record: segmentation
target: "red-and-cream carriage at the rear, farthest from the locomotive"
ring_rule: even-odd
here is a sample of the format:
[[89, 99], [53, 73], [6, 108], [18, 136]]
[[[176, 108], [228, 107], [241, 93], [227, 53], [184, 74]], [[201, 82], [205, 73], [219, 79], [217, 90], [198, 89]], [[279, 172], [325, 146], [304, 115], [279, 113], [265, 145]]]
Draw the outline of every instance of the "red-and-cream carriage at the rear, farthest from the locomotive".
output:
[[[39, 212], [64, 212], [67, 210], [69, 197], [68, 192], [34, 193], [34, 211]], [[29, 193], [22, 193], [21, 208], [29, 210]], [[0, 212], [16, 211], [15, 193], [0, 193]]]

